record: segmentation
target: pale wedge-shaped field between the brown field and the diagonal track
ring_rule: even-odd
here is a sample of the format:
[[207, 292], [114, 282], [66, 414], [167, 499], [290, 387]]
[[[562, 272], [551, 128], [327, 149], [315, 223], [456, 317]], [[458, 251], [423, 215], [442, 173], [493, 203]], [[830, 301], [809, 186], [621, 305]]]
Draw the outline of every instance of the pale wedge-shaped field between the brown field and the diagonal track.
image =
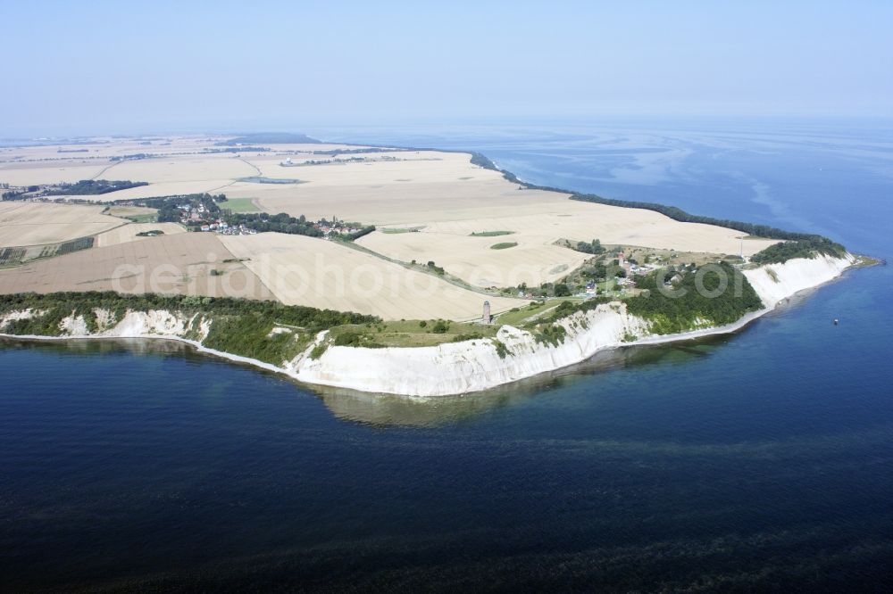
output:
[[289, 305], [340, 309], [384, 319], [480, 318], [484, 301], [494, 313], [524, 301], [489, 297], [409, 270], [345, 245], [301, 235], [223, 236], [230, 252]]

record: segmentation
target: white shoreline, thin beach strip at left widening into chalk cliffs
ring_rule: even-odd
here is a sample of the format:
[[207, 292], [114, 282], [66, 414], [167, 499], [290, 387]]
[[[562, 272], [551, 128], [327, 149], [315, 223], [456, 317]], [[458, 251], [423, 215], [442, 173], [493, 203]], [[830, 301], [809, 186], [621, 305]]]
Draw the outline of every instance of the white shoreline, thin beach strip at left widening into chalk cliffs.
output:
[[[848, 255], [843, 259], [820, 257], [814, 260], [789, 260], [785, 264], [770, 265], [747, 271], [748, 280], [755, 283], [766, 307], [748, 313], [737, 321], [725, 326], [706, 327], [680, 334], [648, 334], [633, 341], [624, 342], [619, 337], [628, 333], [630, 328], [642, 331], [644, 320], [626, 314], [625, 310], [616, 311], [610, 307], [597, 309], [585, 316], [574, 316], [563, 320], [569, 329], [577, 329], [557, 346], [536, 345], [530, 343], [521, 331], [512, 326], [500, 329], [500, 339], [508, 342], [513, 354], [498, 357], [492, 342], [472, 340], [454, 342], [437, 347], [405, 347], [388, 349], [365, 349], [357, 347], [332, 347], [320, 359], [310, 359], [308, 353], [321, 341], [325, 333], [316, 340], [304, 353], [291, 361], [284, 362], [282, 367], [272, 365], [258, 359], [251, 359], [225, 351], [217, 351], [205, 347], [202, 342], [185, 338], [176, 334], [159, 334], [151, 332], [104, 332], [99, 334], [71, 334], [67, 336], [40, 336], [0, 333], [0, 337], [28, 341], [71, 341], [138, 338], [151, 340], [172, 340], [193, 347], [197, 352], [234, 363], [250, 365], [276, 374], [286, 375], [302, 384], [316, 384], [336, 388], [347, 388], [360, 392], [390, 394], [409, 398], [427, 398], [480, 392], [503, 384], [528, 379], [535, 375], [549, 373], [585, 361], [598, 352], [611, 349], [654, 345], [667, 342], [684, 342], [716, 335], [733, 334], [745, 328], [758, 318], [777, 309], [780, 303], [789, 301], [798, 293], [813, 291], [817, 287], [837, 280], [857, 260]], [[774, 275], [783, 274], [793, 280], [784, 282], [772, 281], [773, 287], [758, 280], [766, 274], [767, 268], [775, 270]], [[771, 292], [767, 289], [774, 288]], [[767, 302], [768, 301], [768, 302]], [[151, 312], [150, 312], [151, 313]], [[161, 313], [161, 312], [156, 312]], [[172, 315], [164, 312], [168, 317]], [[133, 315], [133, 314], [130, 314]], [[148, 318], [146, 314], [143, 317]], [[585, 318], [585, 319], [584, 319]], [[125, 318], [115, 328], [132, 326], [132, 320]], [[144, 321], [145, 324], [145, 321]], [[170, 327], [170, 326], [166, 326]], [[583, 328], [580, 330], [580, 328]], [[133, 328], [136, 329], [136, 328]], [[529, 350], [529, 352], [528, 352]], [[363, 358], [366, 358], [363, 360]], [[325, 359], [330, 359], [326, 361]], [[390, 365], [382, 366], [383, 359]], [[432, 377], [429, 369], [421, 369], [421, 374], [411, 375], [407, 370], [428, 363], [430, 368], [438, 369], [439, 377]], [[365, 365], [363, 365], [365, 363]], [[490, 365], [492, 364], [492, 365]], [[489, 365], [489, 368], [488, 368]], [[394, 369], [404, 369], [404, 375], [395, 378]], [[468, 373], [468, 372], [472, 373]], [[419, 378], [423, 378], [424, 382]], [[434, 381], [431, 381], [434, 380]], [[385, 389], [382, 389], [385, 388]], [[389, 388], [389, 389], [388, 389]]]

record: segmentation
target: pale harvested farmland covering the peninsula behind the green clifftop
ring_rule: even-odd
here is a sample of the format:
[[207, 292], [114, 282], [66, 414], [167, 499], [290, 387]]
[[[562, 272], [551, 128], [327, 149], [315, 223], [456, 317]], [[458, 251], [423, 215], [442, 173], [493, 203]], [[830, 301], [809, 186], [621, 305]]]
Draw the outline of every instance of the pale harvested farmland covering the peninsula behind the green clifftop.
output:
[[[0, 290], [104, 289], [121, 264], [169, 265], [165, 290], [173, 293], [219, 295], [222, 281], [238, 277], [239, 295], [352, 310], [389, 323], [462, 321], [480, 318], [485, 300], [494, 314], [525, 306], [497, 296], [516, 294], [502, 289], [579, 276], [590, 255], [568, 242], [598, 239], [667, 259], [672, 253], [749, 256], [774, 243], [742, 242], [739, 231], [681, 223], [653, 210], [530, 189], [472, 163], [468, 153], [263, 144], [263, 136], [256, 138], [246, 146], [223, 136], [158, 136], [0, 148], [0, 183], [12, 187], [102, 179], [146, 184], [58, 197], [96, 202], [91, 205], [0, 203], [0, 247], [9, 249], [4, 266], [16, 267], [3, 271]], [[378, 230], [357, 239], [353, 249], [276, 233], [186, 234], [179, 225], [154, 222], [155, 210], [129, 202], [196, 193], [225, 194], [219, 205], [235, 214], [304, 215], [308, 228], [337, 217]], [[140, 235], [154, 230], [163, 235]], [[58, 246], [69, 243], [86, 249], [58, 255], [67, 250]], [[138, 291], [137, 284], [127, 290]], [[434, 340], [428, 332], [384, 334], [397, 342]]]

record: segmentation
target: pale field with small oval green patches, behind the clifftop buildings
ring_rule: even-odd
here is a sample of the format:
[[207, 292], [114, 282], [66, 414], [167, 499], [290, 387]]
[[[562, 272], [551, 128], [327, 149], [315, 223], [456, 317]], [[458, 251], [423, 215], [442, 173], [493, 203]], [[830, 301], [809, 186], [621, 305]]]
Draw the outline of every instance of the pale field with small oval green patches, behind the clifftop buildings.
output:
[[[605, 244], [636, 245], [678, 252], [737, 254], [746, 256], [775, 243], [747, 240], [744, 234], [724, 227], [680, 223], [651, 210], [624, 209], [563, 199], [519, 208], [535, 214], [481, 216], [461, 220], [416, 220], [396, 227], [422, 227], [415, 233], [386, 234], [376, 231], [357, 243], [373, 252], [401, 261], [433, 260], [447, 272], [477, 286], [539, 285], [555, 281], [586, 260], [587, 255], [556, 246], [559, 239]], [[472, 233], [511, 231], [511, 235], [473, 237]], [[502, 242], [518, 245], [505, 250], [491, 246]]]

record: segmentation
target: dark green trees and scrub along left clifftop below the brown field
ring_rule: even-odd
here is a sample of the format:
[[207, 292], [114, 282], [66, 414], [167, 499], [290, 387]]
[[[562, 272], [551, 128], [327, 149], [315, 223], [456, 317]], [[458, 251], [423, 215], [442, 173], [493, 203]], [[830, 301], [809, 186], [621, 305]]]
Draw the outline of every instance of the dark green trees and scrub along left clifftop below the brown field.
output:
[[[63, 318], [83, 316], [91, 332], [99, 330], [94, 309], [111, 311], [121, 320], [128, 311], [166, 310], [193, 317], [188, 338], [200, 338], [198, 326], [202, 318], [211, 320], [211, 329], [204, 346], [234, 355], [250, 357], [280, 365], [302, 351], [321, 330], [344, 324], [377, 324], [375, 316], [283, 305], [279, 301], [251, 301], [228, 297], [159, 295], [147, 293], [125, 295], [113, 292], [88, 293], [17, 293], [0, 295], [0, 312], [32, 309], [42, 311], [36, 318], [13, 320], [0, 331], [5, 334], [58, 336]], [[288, 333], [272, 334], [274, 326], [287, 326]]]

